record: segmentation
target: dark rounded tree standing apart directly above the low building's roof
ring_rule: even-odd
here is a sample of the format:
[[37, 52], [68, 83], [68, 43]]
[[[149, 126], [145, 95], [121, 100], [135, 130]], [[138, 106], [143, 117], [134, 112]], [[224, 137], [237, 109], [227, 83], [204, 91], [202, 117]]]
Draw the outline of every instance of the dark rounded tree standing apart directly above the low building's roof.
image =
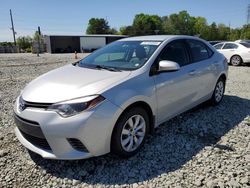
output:
[[87, 34], [108, 34], [110, 27], [108, 21], [103, 18], [91, 18], [86, 30]]

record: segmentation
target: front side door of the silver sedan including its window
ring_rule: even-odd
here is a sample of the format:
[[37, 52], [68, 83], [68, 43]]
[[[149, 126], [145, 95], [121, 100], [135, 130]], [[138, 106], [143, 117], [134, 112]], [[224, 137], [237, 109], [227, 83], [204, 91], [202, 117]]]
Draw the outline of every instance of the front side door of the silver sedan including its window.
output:
[[197, 96], [199, 79], [190, 62], [187, 45], [184, 40], [175, 40], [168, 44], [156, 60], [170, 60], [180, 65], [175, 72], [162, 72], [154, 76], [156, 84], [158, 122], [188, 108]]

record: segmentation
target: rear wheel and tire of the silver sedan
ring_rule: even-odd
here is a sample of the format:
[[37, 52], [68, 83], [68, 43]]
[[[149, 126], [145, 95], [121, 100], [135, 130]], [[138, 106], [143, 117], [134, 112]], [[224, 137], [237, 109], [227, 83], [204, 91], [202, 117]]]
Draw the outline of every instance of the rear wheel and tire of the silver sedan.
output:
[[219, 78], [215, 85], [213, 96], [210, 99], [210, 103], [212, 105], [218, 105], [222, 101], [225, 92], [225, 84], [225, 79], [223, 79], [222, 77]]

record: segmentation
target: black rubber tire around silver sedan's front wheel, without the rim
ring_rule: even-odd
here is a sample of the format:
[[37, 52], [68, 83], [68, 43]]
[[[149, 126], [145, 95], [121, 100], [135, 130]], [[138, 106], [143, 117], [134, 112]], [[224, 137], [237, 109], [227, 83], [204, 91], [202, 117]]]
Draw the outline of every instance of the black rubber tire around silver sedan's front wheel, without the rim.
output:
[[[144, 139], [141, 143], [141, 145], [135, 149], [132, 152], [127, 152], [122, 148], [121, 145], [121, 133], [122, 133], [122, 129], [124, 124], [127, 122], [127, 120], [134, 116], [134, 115], [141, 115], [146, 123], [146, 132], [145, 132], [145, 136]], [[144, 110], [143, 108], [140, 107], [135, 107], [135, 108], [131, 108], [128, 111], [125, 111], [120, 118], [118, 119], [113, 134], [112, 134], [112, 140], [111, 140], [111, 152], [121, 156], [121, 157], [130, 157], [134, 154], [136, 154], [140, 148], [143, 146], [145, 139], [147, 138], [147, 135], [149, 133], [149, 117], [148, 114], [146, 112], [146, 110]]]

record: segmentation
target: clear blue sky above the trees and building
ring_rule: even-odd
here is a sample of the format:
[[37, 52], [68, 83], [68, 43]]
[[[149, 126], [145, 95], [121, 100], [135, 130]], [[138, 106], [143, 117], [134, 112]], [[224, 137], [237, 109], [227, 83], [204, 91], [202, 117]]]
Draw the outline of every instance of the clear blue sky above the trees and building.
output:
[[19, 37], [32, 36], [38, 26], [45, 35], [83, 35], [92, 17], [119, 29], [139, 13], [166, 16], [182, 10], [205, 17], [208, 24], [236, 28], [247, 22], [248, 4], [250, 0], [0, 0], [0, 42], [13, 41], [10, 9]]

